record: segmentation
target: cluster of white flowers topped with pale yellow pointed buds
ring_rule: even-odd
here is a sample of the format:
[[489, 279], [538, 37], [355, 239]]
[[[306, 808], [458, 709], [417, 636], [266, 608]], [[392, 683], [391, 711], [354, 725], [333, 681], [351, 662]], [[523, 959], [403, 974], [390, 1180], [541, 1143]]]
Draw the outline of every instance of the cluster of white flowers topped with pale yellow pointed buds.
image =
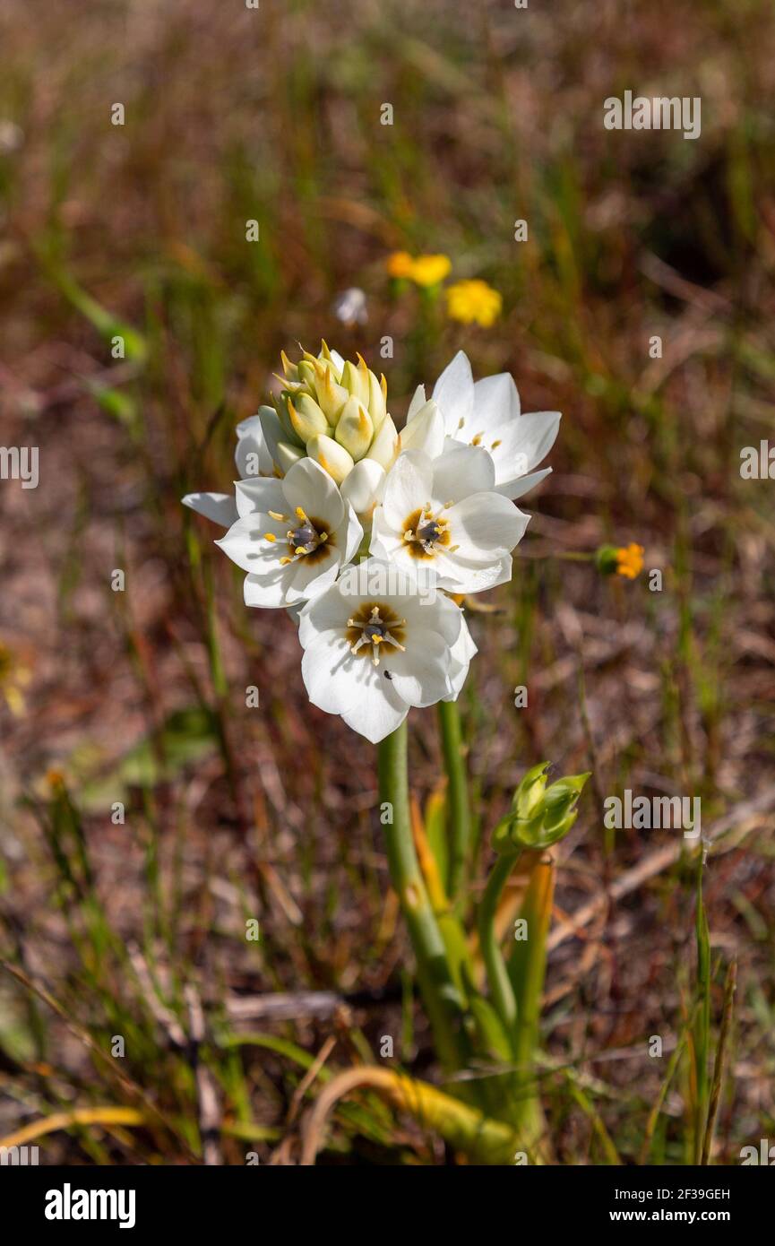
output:
[[385, 378], [323, 343], [283, 354], [272, 406], [237, 429], [234, 495], [186, 506], [228, 528], [248, 606], [299, 627], [313, 704], [376, 743], [410, 706], [455, 700], [476, 645], [456, 594], [511, 578], [559, 414], [522, 415], [508, 374], [473, 381], [460, 351], [399, 434]]

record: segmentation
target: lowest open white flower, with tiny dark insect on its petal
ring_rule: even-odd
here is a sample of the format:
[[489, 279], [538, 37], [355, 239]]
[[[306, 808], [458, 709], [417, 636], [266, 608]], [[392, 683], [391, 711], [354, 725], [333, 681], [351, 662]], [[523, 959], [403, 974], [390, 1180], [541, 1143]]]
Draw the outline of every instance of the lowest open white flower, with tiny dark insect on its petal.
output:
[[[476, 652], [462, 611], [444, 594], [395, 588], [395, 568], [361, 562], [299, 617], [302, 677], [313, 705], [340, 714], [376, 744], [401, 725], [411, 705], [454, 700]], [[375, 589], [375, 591], [371, 591]]]

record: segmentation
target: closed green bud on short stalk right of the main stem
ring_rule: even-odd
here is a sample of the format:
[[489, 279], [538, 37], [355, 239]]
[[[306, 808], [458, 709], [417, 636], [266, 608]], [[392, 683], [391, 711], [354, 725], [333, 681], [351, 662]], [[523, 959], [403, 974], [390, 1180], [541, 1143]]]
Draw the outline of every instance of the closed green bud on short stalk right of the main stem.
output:
[[547, 849], [562, 840], [578, 817], [576, 804], [591, 771], [567, 775], [546, 785], [548, 761], [527, 771], [513, 794], [511, 812], [492, 834], [497, 852], [513, 849]]

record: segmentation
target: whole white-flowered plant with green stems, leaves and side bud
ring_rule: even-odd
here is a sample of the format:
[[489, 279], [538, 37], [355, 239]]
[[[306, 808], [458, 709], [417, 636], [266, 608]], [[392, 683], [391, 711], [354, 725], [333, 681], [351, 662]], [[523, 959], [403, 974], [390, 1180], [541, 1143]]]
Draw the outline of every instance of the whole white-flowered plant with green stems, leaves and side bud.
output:
[[[283, 355], [283, 369], [272, 406], [237, 429], [234, 495], [183, 501], [227, 528], [218, 545], [245, 572], [245, 603], [290, 613], [313, 704], [378, 745], [390, 875], [447, 1090], [415, 1084], [412, 1095], [402, 1078], [394, 1098], [417, 1113], [432, 1104], [439, 1130], [473, 1156], [542, 1161], [551, 1140], [533, 1062], [553, 885], [546, 854], [576, 820], [587, 775], [547, 784], [548, 763], [525, 775], [473, 906], [456, 703], [476, 654], [464, 603], [511, 579], [528, 522], [513, 502], [551, 471], [535, 468], [559, 414], [522, 415], [512, 378], [473, 383], [462, 351], [430, 399], [419, 386], [400, 434], [385, 378], [360, 356], [345, 361], [324, 343], [297, 364]], [[407, 776], [406, 718], [430, 705], [447, 771], [444, 852], [412, 810]], [[515, 873], [521, 910], [506, 890]], [[510, 956], [505, 923], [523, 933]]]

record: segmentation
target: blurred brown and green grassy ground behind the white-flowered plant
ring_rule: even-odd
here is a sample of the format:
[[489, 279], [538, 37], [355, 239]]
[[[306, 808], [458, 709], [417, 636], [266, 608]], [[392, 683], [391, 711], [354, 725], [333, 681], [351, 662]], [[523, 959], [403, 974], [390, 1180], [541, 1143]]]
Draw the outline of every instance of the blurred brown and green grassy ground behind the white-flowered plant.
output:
[[[734, 958], [714, 1158], [773, 1136], [775, 525], [739, 465], [773, 436], [774, 36], [766, 0], [2, 5], [0, 440], [40, 447], [40, 485], [0, 483], [1, 1135], [45, 1119], [44, 1163], [289, 1163], [334, 1070], [436, 1074], [373, 749], [309, 706], [293, 624], [245, 609], [179, 506], [229, 488], [235, 422], [323, 335], [385, 370], [399, 420], [461, 346], [563, 411], [461, 701], [472, 898], [527, 766], [593, 771], [549, 934], [554, 1160], [692, 1160]], [[624, 90], [700, 96], [701, 137], [606, 131]], [[394, 250], [488, 282], [498, 321], [396, 294]], [[644, 573], [601, 577], [603, 542]], [[432, 716], [411, 748], [431, 834]], [[624, 787], [701, 796], [706, 932], [694, 870], [648, 872], [677, 832], [603, 827]], [[452, 1151], [366, 1089], [321, 1159]]]

